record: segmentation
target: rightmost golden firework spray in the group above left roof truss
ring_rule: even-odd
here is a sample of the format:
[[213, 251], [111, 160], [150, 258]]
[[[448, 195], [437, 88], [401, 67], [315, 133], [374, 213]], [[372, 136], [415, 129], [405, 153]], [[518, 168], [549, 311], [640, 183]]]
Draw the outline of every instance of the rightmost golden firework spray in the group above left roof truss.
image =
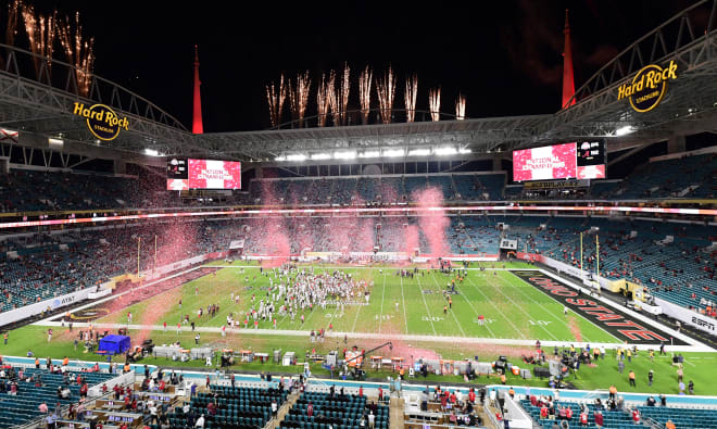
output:
[[75, 14], [75, 30], [72, 30], [70, 18], [59, 23], [58, 36], [60, 45], [67, 56], [67, 62], [75, 66], [77, 79], [77, 91], [87, 97], [92, 83], [92, 70], [95, 67], [95, 38], [84, 39], [83, 27], [79, 25], [79, 12]]

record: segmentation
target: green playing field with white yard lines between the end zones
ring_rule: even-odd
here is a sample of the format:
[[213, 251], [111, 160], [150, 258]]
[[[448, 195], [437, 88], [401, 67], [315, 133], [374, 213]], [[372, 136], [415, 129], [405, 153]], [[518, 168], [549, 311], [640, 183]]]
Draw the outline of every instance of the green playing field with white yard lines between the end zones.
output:
[[[337, 311], [334, 305], [328, 305], [326, 310], [306, 310], [303, 312], [303, 324], [301, 313], [293, 320], [277, 314], [277, 329], [318, 330], [332, 325], [334, 330], [339, 332], [618, 342], [615, 337], [573, 312], [565, 316], [562, 304], [507, 270], [490, 267], [483, 272], [469, 270], [462, 283], [456, 282], [456, 293], [450, 295], [452, 307], [448, 311], [444, 310], [449, 303], [443, 291], [451, 282], [450, 275], [422, 269], [414, 278], [403, 278], [395, 275], [395, 268], [388, 267], [341, 270], [351, 273], [354, 278], [374, 281], [367, 305], [347, 305], [343, 312]], [[257, 303], [266, 296], [268, 288], [269, 278], [260, 274], [257, 267], [225, 267], [98, 321], [124, 324], [127, 312], [131, 312], [133, 324], [162, 325], [166, 321], [173, 327], [189, 314], [197, 326], [221, 327], [226, 324], [229, 313], [236, 319], [243, 320], [240, 315], [250, 311], [252, 295]], [[232, 293], [240, 295], [238, 303], [231, 300]], [[200, 307], [206, 310], [210, 304], [218, 304], [219, 312], [212, 318], [207, 318], [206, 314], [198, 318], [197, 311]], [[479, 315], [486, 319], [482, 326], [478, 324]], [[252, 325], [250, 319], [250, 329]], [[259, 328], [272, 329], [273, 324], [260, 320]]]

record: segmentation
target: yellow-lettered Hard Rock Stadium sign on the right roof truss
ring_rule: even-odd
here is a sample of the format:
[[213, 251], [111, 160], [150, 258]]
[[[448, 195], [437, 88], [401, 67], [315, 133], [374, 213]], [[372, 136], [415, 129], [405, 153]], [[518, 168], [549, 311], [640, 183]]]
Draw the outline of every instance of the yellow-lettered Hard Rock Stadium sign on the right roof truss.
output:
[[632, 83], [622, 84], [617, 89], [617, 99], [628, 98], [636, 112], [650, 112], [665, 97], [667, 80], [677, 79], [677, 63], [670, 61], [663, 68], [657, 64], [642, 67], [632, 78]]

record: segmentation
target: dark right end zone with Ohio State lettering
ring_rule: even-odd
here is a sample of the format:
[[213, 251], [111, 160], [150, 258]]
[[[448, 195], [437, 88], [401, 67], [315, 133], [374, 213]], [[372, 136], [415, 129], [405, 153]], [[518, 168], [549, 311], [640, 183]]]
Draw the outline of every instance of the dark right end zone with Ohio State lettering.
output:
[[599, 300], [592, 300], [590, 296], [570, 288], [563, 281], [551, 278], [541, 272], [517, 270], [511, 273], [619, 340], [633, 344], [658, 344], [661, 342], [669, 344], [670, 340], [676, 345], [687, 344], [678, 338], [670, 338], [668, 333], [662, 330], [640, 325], [628, 313], [615, 307], [607, 308]]

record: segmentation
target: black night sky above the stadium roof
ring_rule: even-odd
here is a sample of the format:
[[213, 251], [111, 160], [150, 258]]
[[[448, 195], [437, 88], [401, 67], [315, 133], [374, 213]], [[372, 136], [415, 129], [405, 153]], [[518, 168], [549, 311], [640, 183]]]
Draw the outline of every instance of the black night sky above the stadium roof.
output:
[[[388, 3], [34, 4], [42, 12], [79, 11], [84, 33], [96, 38], [95, 73], [149, 99], [188, 128], [193, 45], [199, 45], [204, 131], [212, 133], [268, 128], [267, 83], [282, 72], [294, 76], [309, 70], [315, 90], [320, 73], [342, 68], [344, 61], [352, 67], [349, 109], [358, 108], [358, 71], [373, 65], [375, 79], [390, 64], [399, 76], [398, 108], [404, 77], [416, 73], [419, 110], [427, 110], [428, 88], [441, 86], [443, 112], [453, 113], [462, 91], [468, 117], [553, 113], [561, 102], [566, 8], [577, 89], [616, 53], [693, 2]], [[17, 43], [26, 47], [22, 30]], [[315, 92], [307, 115], [316, 113], [314, 100]]]

